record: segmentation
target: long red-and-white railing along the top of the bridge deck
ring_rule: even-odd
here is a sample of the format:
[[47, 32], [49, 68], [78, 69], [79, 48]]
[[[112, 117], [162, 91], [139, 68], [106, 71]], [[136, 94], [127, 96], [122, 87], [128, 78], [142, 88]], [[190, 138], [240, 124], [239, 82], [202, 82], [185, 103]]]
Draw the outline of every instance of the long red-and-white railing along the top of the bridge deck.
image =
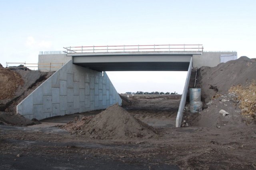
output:
[[202, 44], [165, 44], [165, 45], [106, 45], [106, 46], [80, 46], [63, 47], [64, 53], [109, 53], [109, 52], [152, 52], [152, 51], [199, 51]]

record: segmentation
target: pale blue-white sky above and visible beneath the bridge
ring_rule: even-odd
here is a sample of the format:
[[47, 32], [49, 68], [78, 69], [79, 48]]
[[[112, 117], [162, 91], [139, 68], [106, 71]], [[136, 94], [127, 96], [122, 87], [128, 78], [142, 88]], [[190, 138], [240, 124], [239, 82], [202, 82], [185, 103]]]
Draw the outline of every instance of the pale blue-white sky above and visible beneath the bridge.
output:
[[[203, 44], [254, 55], [255, 0], [0, 0], [0, 63], [90, 45]], [[186, 72], [107, 72], [116, 90], [182, 93]]]

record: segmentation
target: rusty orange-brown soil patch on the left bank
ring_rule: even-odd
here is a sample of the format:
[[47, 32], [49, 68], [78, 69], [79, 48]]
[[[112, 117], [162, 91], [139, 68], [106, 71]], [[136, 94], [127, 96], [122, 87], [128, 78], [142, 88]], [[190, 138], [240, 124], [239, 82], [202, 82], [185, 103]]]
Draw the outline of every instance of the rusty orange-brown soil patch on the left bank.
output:
[[0, 67], [0, 100], [12, 98], [18, 86], [23, 84], [20, 74], [9, 68]]

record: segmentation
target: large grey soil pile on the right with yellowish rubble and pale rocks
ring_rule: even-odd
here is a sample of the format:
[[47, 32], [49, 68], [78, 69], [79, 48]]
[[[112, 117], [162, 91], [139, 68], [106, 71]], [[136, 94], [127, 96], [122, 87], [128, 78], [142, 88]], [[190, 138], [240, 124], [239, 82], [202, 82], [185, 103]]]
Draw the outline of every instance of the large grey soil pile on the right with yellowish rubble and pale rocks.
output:
[[217, 128], [242, 128], [254, 124], [255, 73], [256, 61], [248, 57], [240, 57], [213, 68], [201, 67], [197, 87], [201, 88], [204, 109], [199, 113], [185, 113], [183, 124]]

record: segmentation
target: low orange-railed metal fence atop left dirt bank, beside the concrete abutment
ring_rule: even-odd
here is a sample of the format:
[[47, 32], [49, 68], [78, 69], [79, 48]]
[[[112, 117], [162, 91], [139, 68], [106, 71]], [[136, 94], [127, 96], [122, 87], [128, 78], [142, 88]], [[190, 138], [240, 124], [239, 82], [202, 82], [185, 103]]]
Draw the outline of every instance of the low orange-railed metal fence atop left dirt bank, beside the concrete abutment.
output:
[[[20, 64], [19, 66], [10, 66], [10, 64]], [[63, 66], [63, 64], [65, 63], [8, 63], [6, 62], [6, 67], [10, 67], [10, 68], [37, 68], [37, 70], [39, 70], [39, 68], [49, 68], [49, 70], [51, 71], [52, 68], [61, 68]], [[23, 65], [23, 66], [21, 66]]]

